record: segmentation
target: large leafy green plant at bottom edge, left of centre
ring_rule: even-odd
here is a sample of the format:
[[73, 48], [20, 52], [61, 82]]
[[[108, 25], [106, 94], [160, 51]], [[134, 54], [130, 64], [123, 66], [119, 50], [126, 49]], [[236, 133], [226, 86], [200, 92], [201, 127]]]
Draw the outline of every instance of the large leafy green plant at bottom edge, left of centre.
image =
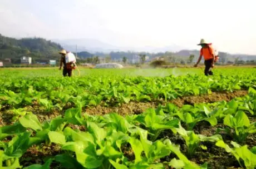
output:
[[129, 140], [129, 136], [112, 127], [105, 130], [95, 123], [88, 122], [87, 125], [88, 132], [65, 128], [64, 134], [70, 142], [66, 142], [62, 149], [75, 152], [77, 161], [85, 168], [109, 168], [109, 160], [123, 157], [121, 145]]

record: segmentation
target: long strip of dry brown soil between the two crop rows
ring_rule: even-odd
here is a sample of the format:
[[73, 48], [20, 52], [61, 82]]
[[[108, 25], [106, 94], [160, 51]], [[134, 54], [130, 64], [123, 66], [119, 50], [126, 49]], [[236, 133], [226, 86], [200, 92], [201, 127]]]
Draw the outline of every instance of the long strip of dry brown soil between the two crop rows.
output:
[[[211, 95], [202, 95], [202, 96], [186, 96], [178, 98], [176, 100], [170, 101], [178, 107], [183, 105], [194, 105], [195, 103], [213, 103], [218, 101], [230, 101], [235, 97], [242, 97], [247, 95], [247, 91], [234, 91], [233, 93], [229, 92], [213, 92]], [[165, 103], [164, 103], [165, 104]], [[107, 113], [115, 112], [119, 113], [122, 116], [139, 114], [147, 110], [148, 108], [156, 108], [159, 103], [156, 102], [130, 102], [124, 103], [119, 107], [104, 107], [96, 106], [87, 108], [85, 110], [89, 115], [105, 115]]]

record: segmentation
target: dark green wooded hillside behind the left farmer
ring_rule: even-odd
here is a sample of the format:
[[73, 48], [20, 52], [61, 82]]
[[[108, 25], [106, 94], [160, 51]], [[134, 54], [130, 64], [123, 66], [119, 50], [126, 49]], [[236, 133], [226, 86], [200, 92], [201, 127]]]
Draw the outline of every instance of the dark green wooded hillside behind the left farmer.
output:
[[0, 59], [19, 59], [29, 56], [33, 59], [58, 59], [60, 44], [43, 38], [10, 38], [0, 34]]

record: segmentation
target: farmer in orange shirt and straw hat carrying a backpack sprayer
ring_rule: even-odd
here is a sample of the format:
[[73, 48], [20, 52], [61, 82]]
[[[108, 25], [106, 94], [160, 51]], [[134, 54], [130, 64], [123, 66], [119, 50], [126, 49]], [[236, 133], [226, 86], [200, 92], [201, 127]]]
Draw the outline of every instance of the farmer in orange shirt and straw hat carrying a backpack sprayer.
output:
[[205, 64], [204, 74], [205, 76], [213, 75], [211, 68], [214, 67], [215, 54], [214, 54], [213, 47], [211, 47], [211, 43], [207, 43], [204, 39], [201, 39], [201, 42], [198, 45], [201, 46], [200, 56], [198, 58], [198, 62], [196, 62], [194, 67], [198, 66], [198, 64], [202, 59], [202, 56], [204, 56], [204, 64]]

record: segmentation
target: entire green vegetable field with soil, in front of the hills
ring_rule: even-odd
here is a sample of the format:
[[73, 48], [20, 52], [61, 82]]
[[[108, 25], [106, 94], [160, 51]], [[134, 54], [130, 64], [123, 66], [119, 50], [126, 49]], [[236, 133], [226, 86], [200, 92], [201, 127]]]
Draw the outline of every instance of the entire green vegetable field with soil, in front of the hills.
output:
[[214, 73], [0, 69], [0, 168], [256, 168], [256, 69]]

